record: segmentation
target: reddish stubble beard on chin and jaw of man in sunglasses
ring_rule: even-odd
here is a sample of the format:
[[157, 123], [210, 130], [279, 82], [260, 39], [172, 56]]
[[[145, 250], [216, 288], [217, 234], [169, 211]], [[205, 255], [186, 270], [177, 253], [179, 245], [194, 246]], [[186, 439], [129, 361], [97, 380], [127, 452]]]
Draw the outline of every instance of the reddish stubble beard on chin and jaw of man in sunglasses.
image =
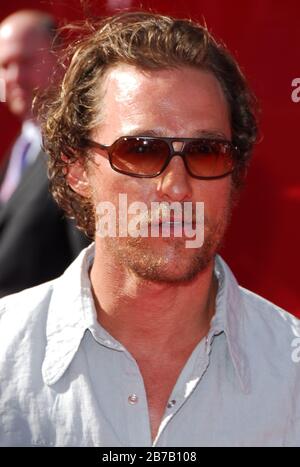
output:
[[186, 238], [111, 238], [105, 248], [120, 267], [135, 276], [156, 283], [186, 283], [203, 272], [214, 260], [231, 217], [231, 203], [215, 223], [205, 219], [204, 242], [200, 248], [186, 248]]

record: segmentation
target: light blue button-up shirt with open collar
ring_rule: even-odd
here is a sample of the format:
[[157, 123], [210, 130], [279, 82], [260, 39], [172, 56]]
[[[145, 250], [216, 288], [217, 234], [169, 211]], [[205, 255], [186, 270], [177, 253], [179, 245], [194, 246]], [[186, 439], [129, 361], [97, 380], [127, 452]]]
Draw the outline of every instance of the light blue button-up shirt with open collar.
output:
[[300, 447], [299, 321], [239, 287], [220, 257], [210, 331], [153, 441], [137, 363], [97, 322], [93, 255], [0, 300], [1, 446]]

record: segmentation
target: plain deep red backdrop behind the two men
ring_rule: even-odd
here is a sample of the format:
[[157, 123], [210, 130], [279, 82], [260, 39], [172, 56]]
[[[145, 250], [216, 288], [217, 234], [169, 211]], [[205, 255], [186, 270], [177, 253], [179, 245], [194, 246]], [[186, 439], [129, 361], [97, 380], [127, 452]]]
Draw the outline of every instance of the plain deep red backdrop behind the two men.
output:
[[[69, 21], [106, 12], [109, 1], [122, 2], [96, 0], [83, 7], [80, 0], [12, 0], [1, 4], [0, 20], [19, 8], [39, 8]], [[222, 254], [242, 285], [300, 316], [300, 102], [291, 99], [292, 80], [300, 77], [300, 3], [132, 0], [131, 4], [205, 18], [248, 76], [261, 104], [262, 141]], [[18, 128], [2, 103], [0, 124], [1, 155]]]

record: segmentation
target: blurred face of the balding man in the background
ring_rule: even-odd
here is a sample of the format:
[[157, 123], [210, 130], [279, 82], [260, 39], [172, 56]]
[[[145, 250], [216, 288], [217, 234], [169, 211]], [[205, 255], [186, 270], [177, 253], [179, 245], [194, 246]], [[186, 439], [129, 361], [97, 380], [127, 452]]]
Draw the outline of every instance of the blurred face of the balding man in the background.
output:
[[44, 90], [54, 64], [45, 33], [20, 29], [14, 20], [0, 28], [0, 77], [10, 111], [22, 120], [31, 117], [36, 90]]

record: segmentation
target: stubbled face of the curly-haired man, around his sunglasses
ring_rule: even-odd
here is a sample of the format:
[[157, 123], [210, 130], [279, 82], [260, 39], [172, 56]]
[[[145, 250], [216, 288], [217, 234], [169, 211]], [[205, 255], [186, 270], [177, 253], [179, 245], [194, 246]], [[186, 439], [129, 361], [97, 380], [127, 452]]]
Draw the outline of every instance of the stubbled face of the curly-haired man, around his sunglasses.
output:
[[[231, 139], [228, 105], [220, 84], [210, 73], [183, 67], [141, 71], [119, 65], [106, 76], [103, 123], [91, 135], [110, 145], [122, 135]], [[185, 238], [97, 238], [106, 251], [137, 276], [157, 282], [193, 279], [212, 265], [231, 211], [231, 176], [197, 180], [186, 171], [180, 156], [171, 159], [162, 174], [139, 179], [113, 171], [107, 155], [94, 156], [89, 166], [93, 204], [110, 201], [119, 193], [128, 203], [203, 202], [205, 235], [201, 248], [186, 248]]]

